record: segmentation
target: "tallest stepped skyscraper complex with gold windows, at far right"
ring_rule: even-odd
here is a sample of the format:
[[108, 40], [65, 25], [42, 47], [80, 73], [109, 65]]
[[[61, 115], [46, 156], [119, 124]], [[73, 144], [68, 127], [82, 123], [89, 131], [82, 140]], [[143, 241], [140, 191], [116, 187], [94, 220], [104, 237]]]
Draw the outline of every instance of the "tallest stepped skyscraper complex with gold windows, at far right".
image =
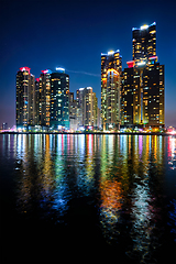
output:
[[155, 22], [133, 28], [133, 61], [122, 82], [121, 124], [164, 127], [164, 65], [157, 63]]

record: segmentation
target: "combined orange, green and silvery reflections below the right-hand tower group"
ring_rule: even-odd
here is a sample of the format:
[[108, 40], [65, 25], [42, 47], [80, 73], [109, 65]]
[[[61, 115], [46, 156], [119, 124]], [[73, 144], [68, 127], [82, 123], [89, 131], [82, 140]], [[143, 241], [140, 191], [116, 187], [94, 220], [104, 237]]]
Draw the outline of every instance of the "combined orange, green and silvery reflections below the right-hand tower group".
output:
[[[110, 148], [110, 145], [113, 145]], [[158, 248], [161, 191], [164, 172], [164, 139], [120, 135], [113, 144], [102, 136], [100, 222], [108, 242], [120, 241], [122, 226], [131, 227], [133, 243], [127, 254], [141, 262], [153, 261], [151, 246]], [[153, 185], [154, 180], [154, 185]], [[161, 194], [162, 195], [162, 194]], [[157, 230], [157, 231], [156, 231]], [[122, 239], [122, 238], [121, 238]]]

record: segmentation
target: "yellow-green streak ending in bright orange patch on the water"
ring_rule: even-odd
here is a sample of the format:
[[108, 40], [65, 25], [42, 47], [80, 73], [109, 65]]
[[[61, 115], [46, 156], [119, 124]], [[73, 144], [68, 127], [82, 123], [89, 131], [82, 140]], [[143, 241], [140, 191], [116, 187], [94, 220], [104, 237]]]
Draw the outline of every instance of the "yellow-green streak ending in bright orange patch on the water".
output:
[[109, 243], [118, 239], [122, 208], [122, 184], [118, 145], [119, 138], [101, 136], [101, 174], [100, 174], [100, 223], [102, 233]]

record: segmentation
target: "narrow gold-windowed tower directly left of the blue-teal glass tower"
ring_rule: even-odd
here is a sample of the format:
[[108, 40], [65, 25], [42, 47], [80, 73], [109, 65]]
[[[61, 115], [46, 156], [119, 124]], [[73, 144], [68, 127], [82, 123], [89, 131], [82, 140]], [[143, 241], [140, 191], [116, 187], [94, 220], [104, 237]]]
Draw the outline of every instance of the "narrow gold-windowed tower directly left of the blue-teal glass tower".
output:
[[38, 124], [50, 127], [51, 116], [51, 74], [50, 69], [42, 70], [40, 76]]

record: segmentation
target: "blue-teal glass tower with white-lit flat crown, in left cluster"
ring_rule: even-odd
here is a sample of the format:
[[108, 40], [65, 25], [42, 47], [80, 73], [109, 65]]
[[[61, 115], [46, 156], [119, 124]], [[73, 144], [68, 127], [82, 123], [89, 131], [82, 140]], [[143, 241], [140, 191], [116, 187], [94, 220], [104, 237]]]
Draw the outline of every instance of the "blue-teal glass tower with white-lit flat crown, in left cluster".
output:
[[69, 129], [69, 75], [64, 68], [51, 74], [51, 128]]

